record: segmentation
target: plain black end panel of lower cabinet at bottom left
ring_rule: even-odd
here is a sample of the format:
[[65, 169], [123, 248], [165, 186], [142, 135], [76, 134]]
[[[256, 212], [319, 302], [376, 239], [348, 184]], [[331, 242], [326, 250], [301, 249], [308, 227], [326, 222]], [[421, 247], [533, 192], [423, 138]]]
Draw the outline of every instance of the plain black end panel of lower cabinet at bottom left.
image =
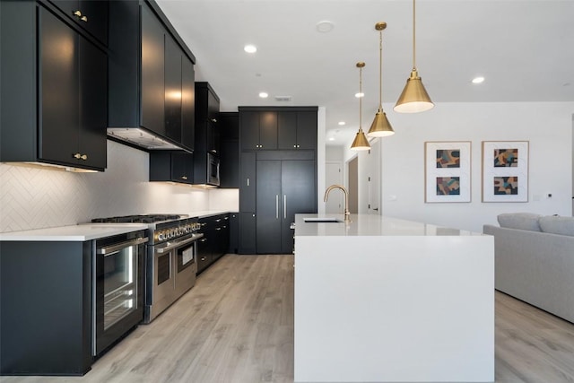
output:
[[91, 241], [0, 242], [0, 374], [91, 366]]

